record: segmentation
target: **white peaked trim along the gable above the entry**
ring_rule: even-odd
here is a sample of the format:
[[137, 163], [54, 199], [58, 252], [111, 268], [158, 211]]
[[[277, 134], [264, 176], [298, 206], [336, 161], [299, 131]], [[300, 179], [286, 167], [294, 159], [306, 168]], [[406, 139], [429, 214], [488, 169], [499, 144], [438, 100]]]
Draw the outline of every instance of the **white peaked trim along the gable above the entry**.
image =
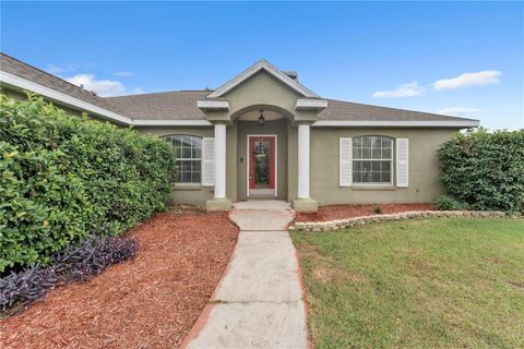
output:
[[279, 80], [285, 85], [287, 85], [290, 88], [295, 89], [296, 92], [300, 93], [302, 96], [319, 98], [319, 96], [317, 94], [311, 92], [309, 88], [302, 86], [301, 84], [299, 84], [298, 82], [296, 82], [291, 77], [287, 76], [285, 73], [283, 73], [277, 68], [273, 67], [270, 62], [267, 62], [264, 59], [261, 59], [260, 61], [258, 61], [257, 63], [254, 63], [253, 65], [251, 65], [250, 68], [248, 68], [247, 70], [245, 70], [243, 72], [241, 72], [240, 74], [235, 76], [234, 79], [229, 80], [227, 83], [225, 83], [224, 85], [222, 85], [221, 87], [215, 89], [213, 93], [211, 93], [207, 96], [207, 98], [216, 98], [216, 97], [223, 96], [227, 92], [231, 91], [233, 88], [235, 88], [236, 86], [241, 84], [247, 79], [257, 74], [262, 69], [267, 71], [270, 74], [275, 76], [277, 80]]

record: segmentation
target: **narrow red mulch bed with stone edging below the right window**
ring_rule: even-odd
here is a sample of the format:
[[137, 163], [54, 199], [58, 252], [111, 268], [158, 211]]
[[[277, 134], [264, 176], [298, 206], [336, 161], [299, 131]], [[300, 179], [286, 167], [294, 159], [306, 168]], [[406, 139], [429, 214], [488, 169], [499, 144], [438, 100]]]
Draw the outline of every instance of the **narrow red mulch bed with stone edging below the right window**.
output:
[[319, 212], [317, 213], [297, 213], [295, 221], [327, 221], [333, 219], [370, 216], [374, 215], [373, 210], [377, 207], [382, 209], [382, 214], [436, 209], [433, 204], [330, 205], [320, 206]]

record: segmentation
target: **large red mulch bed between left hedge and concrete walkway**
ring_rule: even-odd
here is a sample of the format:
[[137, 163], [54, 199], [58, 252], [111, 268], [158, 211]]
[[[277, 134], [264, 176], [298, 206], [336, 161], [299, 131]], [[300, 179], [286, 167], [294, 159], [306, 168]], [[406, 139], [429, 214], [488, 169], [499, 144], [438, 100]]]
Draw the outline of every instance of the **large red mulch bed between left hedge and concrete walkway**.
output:
[[217, 286], [238, 230], [224, 213], [158, 214], [133, 261], [0, 320], [0, 348], [176, 348]]

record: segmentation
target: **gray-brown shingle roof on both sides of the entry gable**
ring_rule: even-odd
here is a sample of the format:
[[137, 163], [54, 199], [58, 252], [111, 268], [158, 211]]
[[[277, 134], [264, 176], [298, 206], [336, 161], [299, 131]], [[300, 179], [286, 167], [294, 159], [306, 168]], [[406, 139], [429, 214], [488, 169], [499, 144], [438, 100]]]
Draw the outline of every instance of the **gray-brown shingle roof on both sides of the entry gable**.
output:
[[[99, 97], [67, 81], [28, 65], [0, 52], [1, 70], [79, 98], [131, 119], [144, 120], [205, 120], [196, 100], [212, 91], [179, 91], [121, 97]], [[455, 121], [473, 120], [429, 112], [394, 109], [327, 99], [327, 108], [320, 120], [347, 121]]]

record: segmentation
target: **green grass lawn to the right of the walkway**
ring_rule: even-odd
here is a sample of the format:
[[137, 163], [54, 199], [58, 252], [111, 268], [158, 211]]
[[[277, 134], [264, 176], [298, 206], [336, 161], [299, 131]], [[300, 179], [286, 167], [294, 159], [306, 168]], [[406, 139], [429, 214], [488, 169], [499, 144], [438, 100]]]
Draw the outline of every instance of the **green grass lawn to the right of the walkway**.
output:
[[315, 348], [524, 348], [524, 220], [293, 232]]

